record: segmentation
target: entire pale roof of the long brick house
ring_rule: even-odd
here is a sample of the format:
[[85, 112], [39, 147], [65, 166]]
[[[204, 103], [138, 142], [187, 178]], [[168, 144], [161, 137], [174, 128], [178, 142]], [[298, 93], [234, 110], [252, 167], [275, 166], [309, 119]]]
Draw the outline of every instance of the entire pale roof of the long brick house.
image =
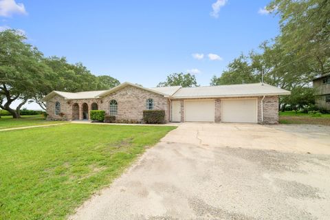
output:
[[277, 95], [289, 95], [290, 92], [285, 89], [280, 89], [272, 85], [261, 83], [242, 84], [242, 85], [219, 85], [210, 87], [154, 87], [146, 88], [140, 85], [132, 83], [122, 83], [117, 87], [113, 87], [109, 90], [102, 91], [81, 91], [81, 92], [65, 92], [65, 91], [52, 91], [50, 94], [43, 98], [43, 101], [47, 101], [56, 94], [62, 96], [65, 99], [89, 99], [89, 98], [101, 98], [107, 96], [126, 85], [139, 87], [152, 91], [157, 94], [161, 94], [169, 98], [215, 98], [215, 97], [241, 97], [241, 96], [277, 96]]

